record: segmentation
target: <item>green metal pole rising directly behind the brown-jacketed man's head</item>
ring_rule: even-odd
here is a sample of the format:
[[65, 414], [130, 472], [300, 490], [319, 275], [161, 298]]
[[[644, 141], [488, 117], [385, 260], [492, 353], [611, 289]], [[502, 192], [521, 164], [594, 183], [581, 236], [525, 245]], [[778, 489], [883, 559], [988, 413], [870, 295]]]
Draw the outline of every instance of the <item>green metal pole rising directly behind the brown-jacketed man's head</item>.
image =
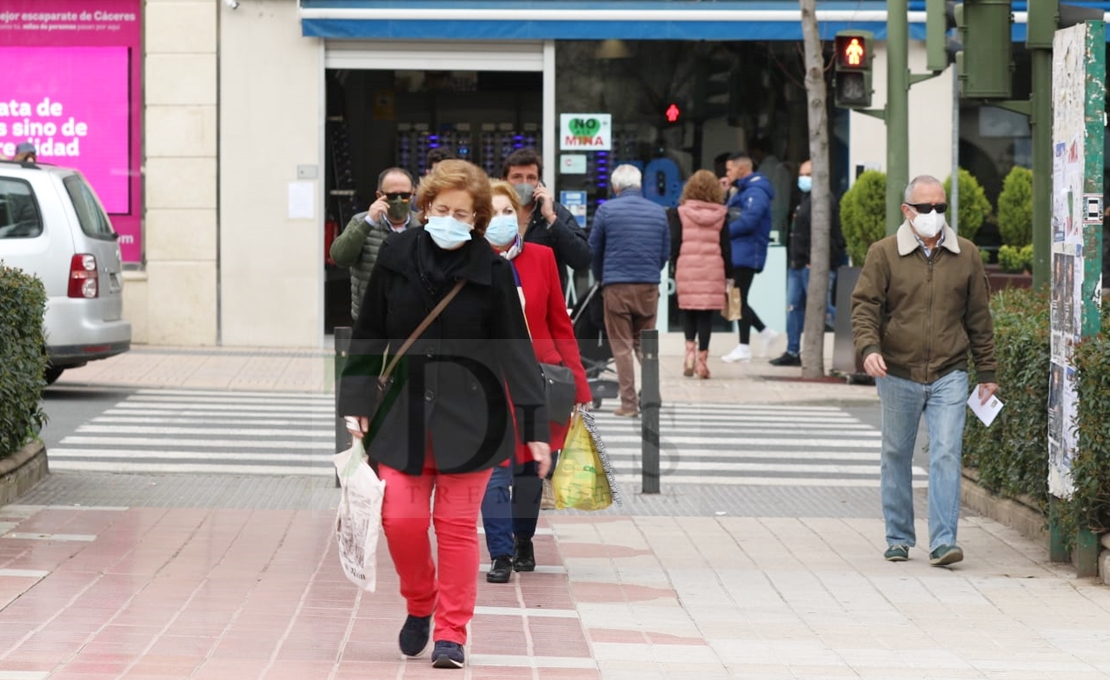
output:
[[909, 1], [887, 2], [887, 235], [902, 223], [909, 184]]

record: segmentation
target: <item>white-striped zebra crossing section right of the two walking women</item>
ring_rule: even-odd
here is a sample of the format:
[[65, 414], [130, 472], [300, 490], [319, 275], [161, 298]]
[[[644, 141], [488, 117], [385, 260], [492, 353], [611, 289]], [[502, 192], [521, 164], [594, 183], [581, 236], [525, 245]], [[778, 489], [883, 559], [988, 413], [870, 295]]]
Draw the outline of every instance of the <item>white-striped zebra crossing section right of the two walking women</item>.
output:
[[[640, 483], [642, 423], [595, 414], [617, 481]], [[660, 484], [878, 487], [879, 430], [826, 406], [665, 404]], [[914, 467], [914, 485], [927, 485]]]

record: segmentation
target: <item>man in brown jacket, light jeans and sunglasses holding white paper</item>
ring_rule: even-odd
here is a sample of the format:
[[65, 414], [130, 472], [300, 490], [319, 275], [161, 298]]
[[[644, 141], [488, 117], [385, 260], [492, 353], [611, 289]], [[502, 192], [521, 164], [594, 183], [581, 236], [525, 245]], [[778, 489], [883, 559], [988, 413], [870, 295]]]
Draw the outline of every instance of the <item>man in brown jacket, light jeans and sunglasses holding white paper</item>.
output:
[[986, 404], [995, 382], [990, 285], [976, 246], [945, 222], [948, 202], [936, 177], [906, 187], [906, 221], [871, 244], [851, 294], [851, 328], [882, 408], [880, 491], [889, 561], [909, 559], [914, 529], [914, 448], [929, 428], [929, 562], [963, 559], [956, 542], [960, 458], [968, 400], [968, 352]]

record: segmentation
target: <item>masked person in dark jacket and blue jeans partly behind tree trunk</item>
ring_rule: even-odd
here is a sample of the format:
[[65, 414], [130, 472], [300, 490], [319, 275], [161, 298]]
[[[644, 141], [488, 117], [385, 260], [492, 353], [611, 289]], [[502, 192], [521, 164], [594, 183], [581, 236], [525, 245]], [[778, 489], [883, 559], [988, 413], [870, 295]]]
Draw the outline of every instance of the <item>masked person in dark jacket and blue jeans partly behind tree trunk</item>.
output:
[[[798, 191], [801, 201], [794, 213], [794, 226], [790, 229], [789, 262], [786, 270], [786, 352], [777, 359], [771, 359], [775, 366], [801, 365], [801, 329], [806, 325], [806, 292], [809, 290], [809, 247], [811, 243], [813, 206], [809, 203], [813, 190], [813, 164], [806, 161], [798, 168]], [[840, 206], [836, 199], [829, 196], [829, 287], [836, 281], [836, 267], [844, 257], [845, 241], [840, 231]], [[831, 315], [827, 311], [827, 315]]]

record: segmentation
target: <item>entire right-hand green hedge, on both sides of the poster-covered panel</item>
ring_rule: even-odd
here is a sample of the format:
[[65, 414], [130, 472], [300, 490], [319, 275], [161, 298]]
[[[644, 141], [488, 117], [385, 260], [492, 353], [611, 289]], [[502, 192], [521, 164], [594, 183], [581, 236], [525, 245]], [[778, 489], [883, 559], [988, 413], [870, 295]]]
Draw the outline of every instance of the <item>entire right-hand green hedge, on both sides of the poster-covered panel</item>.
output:
[[[1048, 396], [1051, 365], [1049, 298], [1021, 288], [991, 298], [999, 396], [1006, 407], [991, 427], [969, 415], [963, 465], [979, 484], [1003, 497], [1026, 496], [1048, 514]], [[1074, 494], [1056, 506], [1066, 541], [1078, 528], [1110, 530], [1110, 305], [1103, 332], [1076, 351], [1079, 376], [1079, 449], [1072, 464]], [[969, 376], [977, 383], [973, 375]], [[1070, 547], [1070, 545], [1069, 545]]]

